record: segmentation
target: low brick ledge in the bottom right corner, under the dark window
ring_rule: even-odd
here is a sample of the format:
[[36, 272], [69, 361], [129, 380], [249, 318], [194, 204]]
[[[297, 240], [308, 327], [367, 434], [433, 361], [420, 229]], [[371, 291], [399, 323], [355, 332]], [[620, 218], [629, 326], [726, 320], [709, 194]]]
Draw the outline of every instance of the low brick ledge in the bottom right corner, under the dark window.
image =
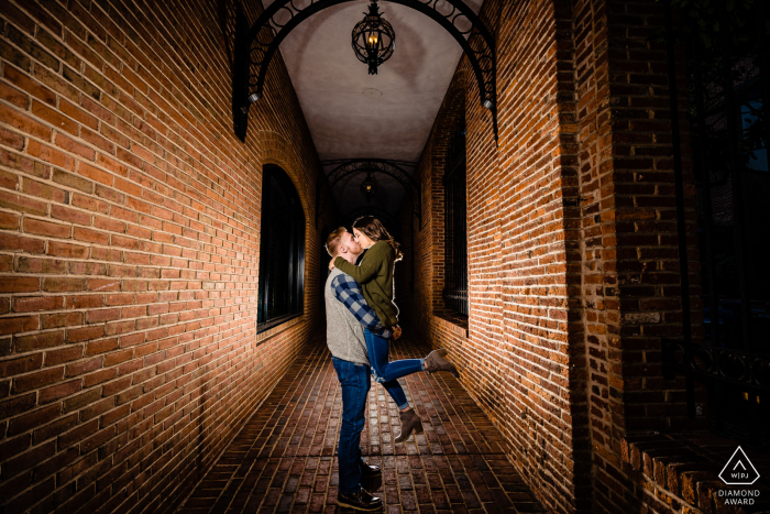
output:
[[[627, 436], [622, 441], [623, 460], [644, 474], [645, 489], [673, 512], [705, 514], [770, 512], [770, 480], [762, 477], [770, 469], [770, 457], [747, 449], [760, 478], [752, 485], [725, 485], [719, 472], [740, 446], [735, 441], [710, 433], [656, 434]], [[725, 505], [719, 490], [760, 490], [755, 505], [741, 507]]]

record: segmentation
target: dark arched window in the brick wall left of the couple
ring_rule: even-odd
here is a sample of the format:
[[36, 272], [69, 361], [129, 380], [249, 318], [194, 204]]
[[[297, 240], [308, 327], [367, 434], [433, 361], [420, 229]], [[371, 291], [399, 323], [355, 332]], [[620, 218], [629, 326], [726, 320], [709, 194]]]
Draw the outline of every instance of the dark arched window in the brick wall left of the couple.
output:
[[264, 168], [261, 238], [257, 332], [302, 314], [305, 212], [292, 179], [277, 166]]

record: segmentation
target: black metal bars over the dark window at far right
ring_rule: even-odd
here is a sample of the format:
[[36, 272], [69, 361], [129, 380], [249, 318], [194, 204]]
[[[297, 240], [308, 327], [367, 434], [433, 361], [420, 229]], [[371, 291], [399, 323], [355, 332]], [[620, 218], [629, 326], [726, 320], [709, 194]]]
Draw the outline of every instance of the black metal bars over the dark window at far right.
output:
[[[730, 25], [729, 14], [719, 13], [725, 21], [721, 32], [710, 33], [711, 25], [697, 23], [686, 8], [679, 13], [683, 23], [675, 33], [671, 11], [667, 17], [670, 76], [675, 73], [674, 37], [688, 50], [705, 335], [690, 337], [684, 319], [683, 340], [663, 339], [662, 350], [666, 376], [686, 378], [691, 417], [703, 407], [695, 400], [697, 381], [707, 391], [703, 414], [711, 428], [767, 451], [770, 409], [762, 403], [770, 400], [770, 120], [765, 106], [770, 68], [763, 3], [746, 2], [751, 9], [746, 26]], [[672, 99], [672, 118], [674, 108]], [[683, 212], [679, 216], [683, 219]]]

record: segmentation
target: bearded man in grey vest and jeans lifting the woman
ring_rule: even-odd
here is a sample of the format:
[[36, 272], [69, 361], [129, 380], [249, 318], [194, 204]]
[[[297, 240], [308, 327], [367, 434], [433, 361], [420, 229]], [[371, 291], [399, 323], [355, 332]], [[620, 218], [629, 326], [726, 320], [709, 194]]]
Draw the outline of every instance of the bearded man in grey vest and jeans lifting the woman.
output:
[[[355, 264], [361, 245], [343, 227], [327, 238], [327, 252]], [[332, 270], [324, 286], [327, 308], [327, 345], [342, 387], [342, 423], [338, 458], [340, 484], [337, 503], [358, 511], [382, 508], [382, 499], [361, 486], [361, 479], [375, 477], [381, 470], [361, 458], [361, 430], [364, 428], [366, 396], [371, 387], [370, 363], [366, 354], [364, 326], [385, 338], [391, 330], [380, 325], [376, 313], [363, 297], [358, 282], [340, 270]], [[400, 333], [394, 333], [398, 337]]]

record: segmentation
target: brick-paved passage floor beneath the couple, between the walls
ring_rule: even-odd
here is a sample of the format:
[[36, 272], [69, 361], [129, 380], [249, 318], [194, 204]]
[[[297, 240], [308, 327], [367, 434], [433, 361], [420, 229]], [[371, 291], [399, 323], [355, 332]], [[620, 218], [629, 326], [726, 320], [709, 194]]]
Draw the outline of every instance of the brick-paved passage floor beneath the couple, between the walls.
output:
[[[429, 351], [408, 340], [393, 350], [393, 359]], [[499, 433], [459, 381], [449, 373], [416, 373], [405, 381], [425, 433], [394, 445], [397, 408], [373, 383], [361, 439], [364, 458], [383, 468], [382, 479], [365, 486], [384, 497], [385, 512], [543, 512], [503, 455]], [[337, 512], [341, 408], [331, 356], [319, 340], [294, 363], [178, 512]]]

